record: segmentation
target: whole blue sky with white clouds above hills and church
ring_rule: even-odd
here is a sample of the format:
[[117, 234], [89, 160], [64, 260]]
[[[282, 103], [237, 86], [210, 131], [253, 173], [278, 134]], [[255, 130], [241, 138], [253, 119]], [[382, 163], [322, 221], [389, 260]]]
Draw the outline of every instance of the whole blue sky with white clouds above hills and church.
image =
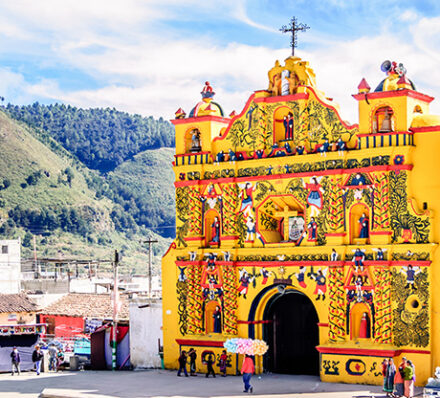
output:
[[[440, 95], [440, 2], [377, 0], [15, 0], [0, 3], [0, 95], [173, 117], [205, 80], [229, 114], [267, 87], [289, 56], [279, 32], [295, 15], [310, 30], [296, 54], [318, 87], [357, 121], [351, 94], [374, 88], [385, 59], [403, 62], [419, 91]], [[431, 106], [440, 113], [437, 101]]]

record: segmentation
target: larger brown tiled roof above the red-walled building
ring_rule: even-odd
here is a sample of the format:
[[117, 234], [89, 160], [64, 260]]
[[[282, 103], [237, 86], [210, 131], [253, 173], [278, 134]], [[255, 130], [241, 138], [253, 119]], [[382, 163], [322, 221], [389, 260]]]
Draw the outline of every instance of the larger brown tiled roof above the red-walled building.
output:
[[[122, 302], [118, 319], [128, 320], [128, 299], [120, 296]], [[111, 319], [113, 302], [110, 294], [70, 293], [40, 311], [43, 315], [64, 315], [82, 318]]]

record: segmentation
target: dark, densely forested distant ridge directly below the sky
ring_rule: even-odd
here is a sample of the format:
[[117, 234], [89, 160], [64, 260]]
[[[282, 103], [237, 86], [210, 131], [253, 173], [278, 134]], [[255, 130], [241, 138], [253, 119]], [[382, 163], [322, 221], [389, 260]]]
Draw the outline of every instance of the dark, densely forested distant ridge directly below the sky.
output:
[[174, 147], [174, 128], [162, 118], [130, 115], [110, 108], [81, 109], [64, 104], [3, 107], [12, 118], [41, 129], [87, 167], [113, 170], [134, 155]]

